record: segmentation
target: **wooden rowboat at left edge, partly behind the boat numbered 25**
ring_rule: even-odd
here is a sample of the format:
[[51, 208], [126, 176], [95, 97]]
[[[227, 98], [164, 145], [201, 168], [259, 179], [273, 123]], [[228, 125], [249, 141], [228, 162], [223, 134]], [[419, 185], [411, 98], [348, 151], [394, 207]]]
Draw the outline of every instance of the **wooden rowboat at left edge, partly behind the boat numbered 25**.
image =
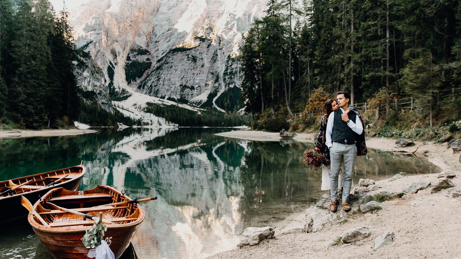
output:
[[43, 196], [49, 190], [56, 187], [64, 187], [67, 190], [78, 190], [85, 172], [86, 168], [83, 166], [82, 161], [82, 164], [75, 167], [37, 173], [0, 182], [0, 193], [10, 190], [0, 195], [0, 207], [8, 208], [8, 213], [1, 214], [0, 221], [28, 213], [21, 206], [21, 196], [26, 197], [31, 202], [35, 202], [39, 199], [39, 196]]

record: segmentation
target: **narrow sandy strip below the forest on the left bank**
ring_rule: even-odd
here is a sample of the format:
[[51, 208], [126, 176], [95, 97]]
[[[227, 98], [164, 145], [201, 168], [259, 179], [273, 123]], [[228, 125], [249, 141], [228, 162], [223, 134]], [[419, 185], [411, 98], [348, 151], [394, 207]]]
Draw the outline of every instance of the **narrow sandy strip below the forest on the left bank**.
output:
[[96, 132], [91, 129], [0, 130], [0, 138], [71, 136]]

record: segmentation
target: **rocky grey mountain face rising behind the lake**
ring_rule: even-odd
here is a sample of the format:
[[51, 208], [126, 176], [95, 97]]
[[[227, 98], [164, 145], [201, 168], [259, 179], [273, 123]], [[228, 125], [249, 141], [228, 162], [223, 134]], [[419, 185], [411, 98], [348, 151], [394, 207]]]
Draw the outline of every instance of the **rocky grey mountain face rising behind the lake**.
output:
[[266, 2], [89, 0], [69, 17], [77, 47], [101, 68], [112, 98], [127, 98], [130, 87], [220, 109], [219, 95], [240, 86], [238, 46]]

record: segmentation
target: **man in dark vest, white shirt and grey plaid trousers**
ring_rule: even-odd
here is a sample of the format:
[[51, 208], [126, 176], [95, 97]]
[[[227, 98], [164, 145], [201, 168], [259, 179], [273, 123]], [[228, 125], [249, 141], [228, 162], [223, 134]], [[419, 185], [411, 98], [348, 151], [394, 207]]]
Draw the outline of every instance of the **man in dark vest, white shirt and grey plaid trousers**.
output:
[[347, 92], [337, 92], [337, 104], [339, 109], [332, 112], [328, 117], [325, 137], [326, 146], [330, 149], [331, 175], [330, 175], [330, 210], [337, 209], [338, 175], [341, 170], [341, 162], [344, 160], [344, 183], [342, 205], [344, 211], [349, 211], [347, 202], [352, 185], [352, 172], [357, 158], [355, 143], [363, 132], [360, 117], [354, 112], [344, 113], [349, 108], [350, 95]]

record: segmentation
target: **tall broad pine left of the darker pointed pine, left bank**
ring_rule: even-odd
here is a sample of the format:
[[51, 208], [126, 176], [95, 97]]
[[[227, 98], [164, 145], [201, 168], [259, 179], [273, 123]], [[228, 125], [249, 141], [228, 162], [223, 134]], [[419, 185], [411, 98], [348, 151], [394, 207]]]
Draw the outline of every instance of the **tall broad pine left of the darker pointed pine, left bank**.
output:
[[46, 121], [47, 65], [51, 56], [47, 35], [53, 28], [50, 11], [47, 0], [40, 0], [33, 6], [27, 0], [21, 0], [13, 19], [11, 56], [14, 73], [8, 100], [12, 112], [17, 115], [15, 121], [24, 122], [29, 128], [39, 128]]

